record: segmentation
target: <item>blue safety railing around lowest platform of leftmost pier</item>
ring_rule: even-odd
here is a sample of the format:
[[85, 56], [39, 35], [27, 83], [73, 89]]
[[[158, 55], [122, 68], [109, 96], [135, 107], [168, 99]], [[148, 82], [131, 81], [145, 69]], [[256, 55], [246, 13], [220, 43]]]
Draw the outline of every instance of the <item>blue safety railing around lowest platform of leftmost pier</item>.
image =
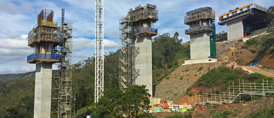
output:
[[32, 60], [60, 60], [60, 54], [56, 53], [33, 53], [27, 57], [27, 61]]

